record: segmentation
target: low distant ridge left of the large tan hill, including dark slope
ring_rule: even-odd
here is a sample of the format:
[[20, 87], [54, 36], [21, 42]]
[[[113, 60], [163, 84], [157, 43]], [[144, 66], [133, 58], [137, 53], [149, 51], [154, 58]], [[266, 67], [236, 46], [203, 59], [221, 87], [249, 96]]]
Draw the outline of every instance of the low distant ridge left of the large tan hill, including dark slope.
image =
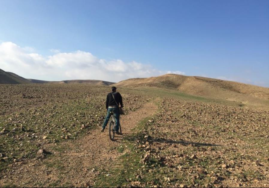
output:
[[13, 72], [5, 72], [0, 69], [0, 84], [92, 84], [92, 85], [111, 85], [115, 82], [102, 80], [64, 80], [64, 81], [44, 81], [36, 79], [26, 79]]

